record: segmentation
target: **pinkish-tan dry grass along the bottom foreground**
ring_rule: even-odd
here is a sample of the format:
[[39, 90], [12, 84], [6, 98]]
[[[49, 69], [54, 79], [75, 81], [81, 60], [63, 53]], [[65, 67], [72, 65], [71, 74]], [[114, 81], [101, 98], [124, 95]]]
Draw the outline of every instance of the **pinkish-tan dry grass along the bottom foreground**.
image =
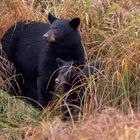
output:
[[[30, 140], [139, 140], [140, 114], [124, 115], [107, 108], [86, 117], [71, 127], [70, 122], [55, 118], [52, 122], [42, 121], [39, 127], [26, 130]], [[29, 135], [29, 132], [32, 135]], [[29, 136], [28, 136], [29, 135]]]

